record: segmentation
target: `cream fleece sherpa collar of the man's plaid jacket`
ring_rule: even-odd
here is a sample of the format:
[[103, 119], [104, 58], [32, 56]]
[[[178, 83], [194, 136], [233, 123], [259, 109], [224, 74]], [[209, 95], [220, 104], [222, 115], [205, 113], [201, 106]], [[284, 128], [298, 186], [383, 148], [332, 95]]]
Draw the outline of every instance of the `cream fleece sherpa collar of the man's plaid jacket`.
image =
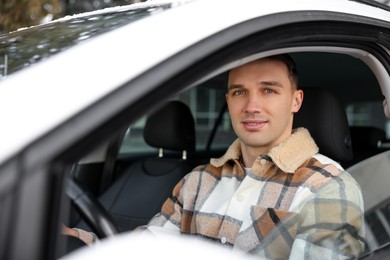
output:
[[[294, 173], [307, 159], [318, 153], [318, 150], [309, 131], [301, 127], [293, 130], [291, 136], [273, 147], [268, 156], [282, 171]], [[238, 160], [240, 157], [241, 142], [236, 139], [222, 157], [211, 159], [210, 163], [215, 167], [221, 167], [227, 161]]]

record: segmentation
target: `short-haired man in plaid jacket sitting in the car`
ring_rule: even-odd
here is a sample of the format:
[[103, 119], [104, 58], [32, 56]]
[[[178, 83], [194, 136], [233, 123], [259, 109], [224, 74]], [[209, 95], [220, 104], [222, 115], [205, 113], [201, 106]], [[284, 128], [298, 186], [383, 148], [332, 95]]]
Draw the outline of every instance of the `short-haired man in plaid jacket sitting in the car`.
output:
[[271, 259], [358, 256], [360, 188], [329, 158], [321, 162], [306, 129], [292, 129], [303, 101], [297, 82], [286, 55], [232, 69], [226, 101], [237, 140], [186, 175], [139, 229], [195, 235]]

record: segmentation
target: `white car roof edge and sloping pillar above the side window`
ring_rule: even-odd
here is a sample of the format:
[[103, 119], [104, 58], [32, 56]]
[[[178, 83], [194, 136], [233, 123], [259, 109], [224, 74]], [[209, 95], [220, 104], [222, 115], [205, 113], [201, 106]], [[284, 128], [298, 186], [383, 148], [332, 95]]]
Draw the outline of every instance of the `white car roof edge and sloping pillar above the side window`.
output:
[[[306, 17], [300, 16], [302, 11]], [[145, 71], [193, 45], [202, 47], [208, 37], [224, 41], [227, 30], [234, 31], [236, 25], [257, 17], [269, 18], [261, 25], [267, 29], [290, 22], [273, 19], [276, 14], [288, 13], [289, 19], [304, 21], [316, 20], [316, 12], [336, 13], [335, 20], [340, 16], [389, 20], [389, 12], [383, 9], [347, 0], [266, 4], [256, 0], [198, 0], [128, 24], [17, 72], [1, 82], [0, 117], [6, 123], [0, 128], [0, 163], [115, 89], [134, 82]], [[107, 50], [113, 45], [115, 48]], [[210, 45], [203, 48], [214, 51]], [[187, 57], [192, 63], [200, 58]], [[158, 75], [159, 80], [168, 76]], [[135, 86], [133, 98], [146, 91]]]

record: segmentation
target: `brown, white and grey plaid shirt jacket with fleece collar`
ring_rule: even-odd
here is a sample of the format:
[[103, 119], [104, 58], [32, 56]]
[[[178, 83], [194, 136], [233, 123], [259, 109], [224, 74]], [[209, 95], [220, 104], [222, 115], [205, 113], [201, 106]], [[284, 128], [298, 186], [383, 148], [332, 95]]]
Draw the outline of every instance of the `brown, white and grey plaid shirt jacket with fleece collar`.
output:
[[186, 175], [145, 228], [197, 235], [271, 259], [344, 259], [364, 250], [360, 187], [318, 153], [306, 129], [250, 169], [240, 157], [237, 139], [224, 156]]

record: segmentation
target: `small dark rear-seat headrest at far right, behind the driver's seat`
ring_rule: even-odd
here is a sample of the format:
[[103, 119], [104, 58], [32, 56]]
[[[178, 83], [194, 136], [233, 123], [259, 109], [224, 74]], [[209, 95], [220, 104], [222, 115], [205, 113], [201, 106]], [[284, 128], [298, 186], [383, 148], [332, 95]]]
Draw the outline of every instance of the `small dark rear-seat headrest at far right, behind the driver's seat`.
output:
[[376, 149], [378, 142], [386, 139], [383, 129], [371, 126], [351, 126], [351, 139], [354, 149]]

